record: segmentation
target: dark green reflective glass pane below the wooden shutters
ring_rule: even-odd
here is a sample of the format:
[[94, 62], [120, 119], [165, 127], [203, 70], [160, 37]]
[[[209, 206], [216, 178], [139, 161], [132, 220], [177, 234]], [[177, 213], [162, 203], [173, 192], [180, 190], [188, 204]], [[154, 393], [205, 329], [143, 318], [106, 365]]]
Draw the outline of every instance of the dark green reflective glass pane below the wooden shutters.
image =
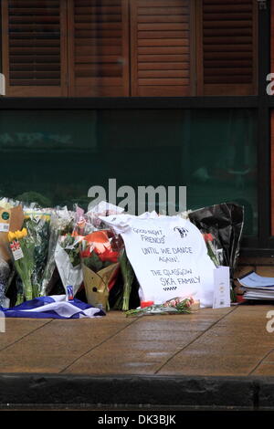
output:
[[111, 178], [136, 195], [186, 186], [187, 209], [243, 204], [245, 233], [256, 235], [256, 128], [252, 110], [2, 111], [0, 193], [87, 208], [90, 187], [108, 196]]

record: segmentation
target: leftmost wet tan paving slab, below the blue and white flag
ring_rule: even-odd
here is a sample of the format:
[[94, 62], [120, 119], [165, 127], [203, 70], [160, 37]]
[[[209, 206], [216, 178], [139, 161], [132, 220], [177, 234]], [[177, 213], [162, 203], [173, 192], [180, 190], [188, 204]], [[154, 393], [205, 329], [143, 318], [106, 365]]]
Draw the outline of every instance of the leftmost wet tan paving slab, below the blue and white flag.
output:
[[[6, 319], [5, 333], [0, 333], [0, 373], [63, 371], [131, 325], [133, 320], [121, 316], [117, 312], [100, 319], [44, 319], [39, 325], [36, 319]], [[14, 324], [19, 320], [21, 339], [15, 340]], [[30, 330], [31, 323], [36, 329]]]

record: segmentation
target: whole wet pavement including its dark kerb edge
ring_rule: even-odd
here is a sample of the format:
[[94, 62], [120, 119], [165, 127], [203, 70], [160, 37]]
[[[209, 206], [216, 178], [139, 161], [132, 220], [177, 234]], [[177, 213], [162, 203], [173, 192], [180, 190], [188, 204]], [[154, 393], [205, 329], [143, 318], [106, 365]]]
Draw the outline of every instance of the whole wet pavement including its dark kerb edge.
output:
[[272, 407], [270, 310], [241, 304], [190, 315], [5, 319], [0, 407]]

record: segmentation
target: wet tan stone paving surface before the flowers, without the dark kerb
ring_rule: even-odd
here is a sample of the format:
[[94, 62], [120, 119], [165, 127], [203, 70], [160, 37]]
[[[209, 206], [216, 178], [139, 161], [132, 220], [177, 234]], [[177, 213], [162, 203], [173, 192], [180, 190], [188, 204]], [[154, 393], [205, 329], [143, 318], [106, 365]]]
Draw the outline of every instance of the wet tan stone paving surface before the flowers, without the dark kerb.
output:
[[100, 319], [6, 319], [0, 373], [272, 375], [269, 309], [241, 305], [142, 318], [111, 311]]

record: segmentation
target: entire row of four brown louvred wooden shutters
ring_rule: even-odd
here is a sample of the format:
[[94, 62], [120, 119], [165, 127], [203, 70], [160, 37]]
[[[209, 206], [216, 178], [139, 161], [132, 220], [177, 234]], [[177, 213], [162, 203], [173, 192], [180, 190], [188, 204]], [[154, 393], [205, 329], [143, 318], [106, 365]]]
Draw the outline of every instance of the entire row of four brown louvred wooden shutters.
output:
[[6, 93], [255, 94], [257, 9], [257, 0], [3, 0]]

